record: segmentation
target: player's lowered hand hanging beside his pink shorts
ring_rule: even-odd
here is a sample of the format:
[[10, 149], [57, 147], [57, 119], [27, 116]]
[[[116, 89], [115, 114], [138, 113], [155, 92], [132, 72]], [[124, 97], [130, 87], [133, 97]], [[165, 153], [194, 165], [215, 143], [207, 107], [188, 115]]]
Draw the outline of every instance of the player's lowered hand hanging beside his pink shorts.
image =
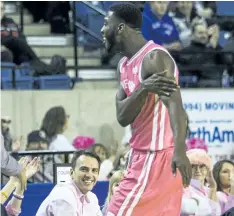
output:
[[172, 173], [176, 176], [176, 169], [179, 169], [184, 187], [188, 187], [192, 178], [192, 167], [186, 153], [174, 152], [171, 163]]

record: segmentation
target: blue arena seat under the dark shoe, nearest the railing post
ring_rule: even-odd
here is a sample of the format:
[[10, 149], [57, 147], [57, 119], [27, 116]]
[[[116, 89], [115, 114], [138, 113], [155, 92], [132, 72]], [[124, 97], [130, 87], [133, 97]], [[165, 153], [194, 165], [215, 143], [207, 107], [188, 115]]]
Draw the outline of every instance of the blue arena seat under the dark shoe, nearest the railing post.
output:
[[39, 88], [44, 90], [59, 90], [72, 88], [71, 78], [65, 74], [40, 76], [36, 78], [36, 82]]

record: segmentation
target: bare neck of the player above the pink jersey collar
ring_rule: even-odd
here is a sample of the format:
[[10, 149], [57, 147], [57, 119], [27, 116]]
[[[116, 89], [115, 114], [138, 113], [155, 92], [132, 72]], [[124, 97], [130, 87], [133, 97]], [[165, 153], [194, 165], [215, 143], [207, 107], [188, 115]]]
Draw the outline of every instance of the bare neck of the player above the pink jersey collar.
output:
[[142, 35], [136, 35], [131, 37], [129, 40], [125, 40], [123, 55], [131, 58], [134, 56], [145, 44], [147, 41], [142, 37]]

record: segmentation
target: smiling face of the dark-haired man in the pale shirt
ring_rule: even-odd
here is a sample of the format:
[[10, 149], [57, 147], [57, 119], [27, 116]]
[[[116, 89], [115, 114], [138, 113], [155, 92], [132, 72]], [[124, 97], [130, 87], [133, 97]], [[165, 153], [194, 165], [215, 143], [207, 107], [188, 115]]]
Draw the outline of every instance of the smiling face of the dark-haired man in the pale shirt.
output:
[[81, 155], [76, 161], [71, 176], [83, 194], [87, 194], [97, 183], [99, 165], [96, 158]]

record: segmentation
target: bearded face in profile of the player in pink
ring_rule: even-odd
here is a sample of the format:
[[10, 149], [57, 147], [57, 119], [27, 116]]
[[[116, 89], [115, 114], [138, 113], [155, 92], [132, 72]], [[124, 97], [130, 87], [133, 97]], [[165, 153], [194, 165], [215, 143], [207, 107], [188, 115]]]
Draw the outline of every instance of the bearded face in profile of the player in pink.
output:
[[113, 11], [109, 11], [104, 18], [104, 25], [101, 29], [103, 43], [108, 52], [117, 52], [120, 48], [120, 37], [117, 18]]

